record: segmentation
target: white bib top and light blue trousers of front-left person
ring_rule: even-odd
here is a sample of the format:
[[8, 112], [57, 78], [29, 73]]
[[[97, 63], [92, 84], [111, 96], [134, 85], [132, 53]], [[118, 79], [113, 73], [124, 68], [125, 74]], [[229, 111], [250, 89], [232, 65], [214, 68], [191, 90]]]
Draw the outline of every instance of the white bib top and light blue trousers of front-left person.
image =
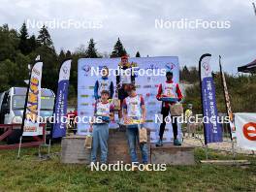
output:
[[[109, 116], [113, 112], [110, 102], [98, 102], [95, 104], [95, 116]], [[101, 162], [106, 163], [108, 157], [109, 124], [107, 121], [93, 124], [91, 161], [96, 162], [97, 149], [100, 145]]]

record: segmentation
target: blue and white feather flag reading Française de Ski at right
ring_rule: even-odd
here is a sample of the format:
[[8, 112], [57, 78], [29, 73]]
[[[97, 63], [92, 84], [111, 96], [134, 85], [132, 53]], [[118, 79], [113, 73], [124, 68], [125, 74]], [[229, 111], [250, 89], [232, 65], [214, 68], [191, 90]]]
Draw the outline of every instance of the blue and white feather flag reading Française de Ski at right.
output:
[[199, 60], [199, 73], [201, 77], [201, 99], [203, 104], [205, 144], [222, 142], [222, 128], [217, 122], [217, 107], [215, 98], [215, 85], [211, 76], [209, 65], [211, 54], [204, 54]]

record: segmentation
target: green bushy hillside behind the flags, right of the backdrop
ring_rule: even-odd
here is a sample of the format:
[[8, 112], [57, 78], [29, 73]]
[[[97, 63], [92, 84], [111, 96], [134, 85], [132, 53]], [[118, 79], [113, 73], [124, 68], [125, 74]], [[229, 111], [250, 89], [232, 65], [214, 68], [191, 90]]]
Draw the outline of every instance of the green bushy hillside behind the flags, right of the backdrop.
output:
[[[197, 113], [202, 112], [201, 104], [201, 89], [196, 75], [196, 70], [186, 72], [182, 70], [183, 81], [193, 83], [192, 87], [186, 89], [185, 104], [193, 104], [193, 111]], [[197, 71], [198, 73], [198, 71]], [[188, 74], [188, 75], [187, 75]], [[192, 75], [191, 75], [192, 74]], [[231, 100], [231, 107], [233, 112], [256, 112], [256, 78], [253, 75], [233, 77], [225, 74], [229, 96]], [[194, 80], [195, 81], [191, 81]], [[214, 82], [216, 89], [216, 102], [218, 112], [226, 112], [226, 104], [223, 93], [223, 85], [219, 73], [214, 74]]]

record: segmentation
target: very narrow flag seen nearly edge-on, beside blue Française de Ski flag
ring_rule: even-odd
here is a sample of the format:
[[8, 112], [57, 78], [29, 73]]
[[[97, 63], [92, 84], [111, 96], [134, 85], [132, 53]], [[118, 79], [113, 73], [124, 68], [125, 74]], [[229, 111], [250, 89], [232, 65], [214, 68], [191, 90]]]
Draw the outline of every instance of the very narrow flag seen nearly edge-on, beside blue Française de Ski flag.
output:
[[227, 114], [229, 115], [230, 137], [231, 137], [231, 140], [233, 140], [234, 138], [236, 138], [236, 127], [235, 127], [235, 123], [234, 123], [233, 112], [231, 110], [231, 103], [230, 103], [228, 87], [227, 87], [227, 83], [226, 83], [226, 79], [225, 79], [225, 74], [222, 71], [221, 56], [219, 56], [219, 69], [220, 69], [220, 75], [221, 75], [221, 79], [222, 79]]

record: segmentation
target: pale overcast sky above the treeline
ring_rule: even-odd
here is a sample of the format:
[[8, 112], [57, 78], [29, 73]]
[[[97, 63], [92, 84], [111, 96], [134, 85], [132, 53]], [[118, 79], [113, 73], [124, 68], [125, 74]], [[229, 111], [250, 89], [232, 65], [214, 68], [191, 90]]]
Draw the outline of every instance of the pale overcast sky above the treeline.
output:
[[[29, 34], [38, 35], [40, 26], [46, 23], [58, 52], [62, 48], [75, 51], [93, 38], [99, 52], [110, 53], [118, 37], [131, 57], [138, 50], [142, 56], [178, 56], [180, 66], [198, 66], [200, 56], [208, 52], [214, 71], [221, 55], [223, 70], [236, 75], [240, 65], [256, 59], [252, 2], [0, 0], [0, 24], [8, 23], [19, 30], [25, 21]], [[184, 21], [204, 22], [206, 26], [185, 28]], [[212, 22], [218, 26], [208, 27]], [[56, 23], [69, 25], [58, 27]]]

